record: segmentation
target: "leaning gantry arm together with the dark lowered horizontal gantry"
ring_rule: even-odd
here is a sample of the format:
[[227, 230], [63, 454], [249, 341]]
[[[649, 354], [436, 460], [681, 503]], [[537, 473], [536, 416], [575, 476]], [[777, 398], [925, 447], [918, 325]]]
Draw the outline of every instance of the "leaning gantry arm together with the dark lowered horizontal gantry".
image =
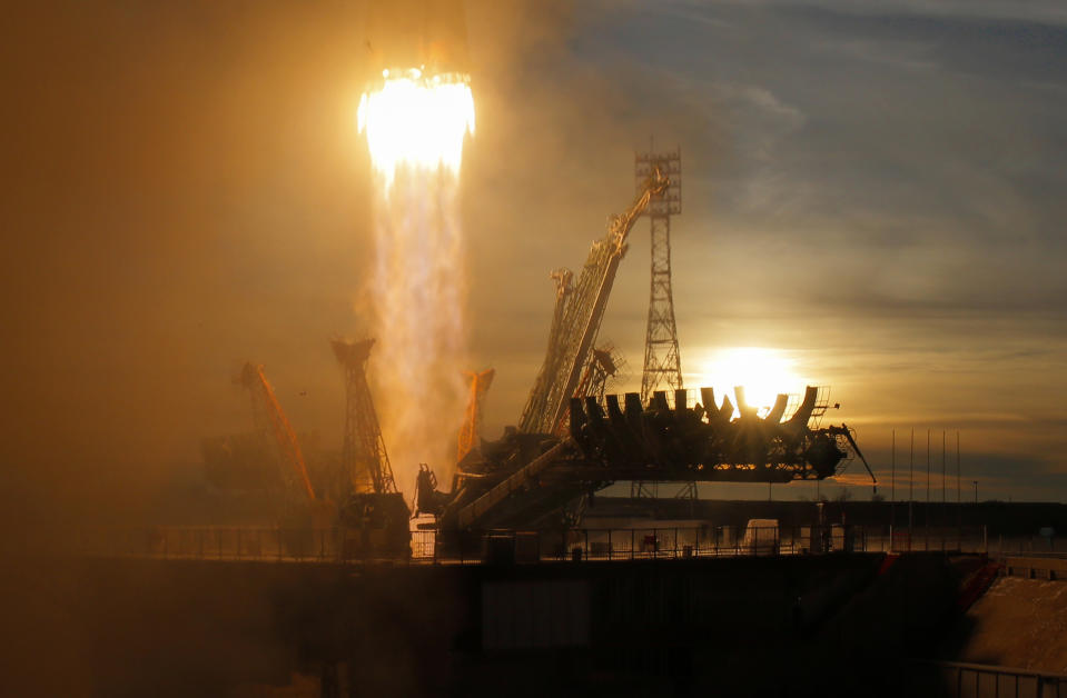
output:
[[[653, 490], [659, 482], [674, 482], [681, 486], [679, 495], [692, 497], [695, 482], [820, 480], [836, 475], [851, 453], [862, 460], [844, 425], [809, 426], [826, 409], [813, 387], [788, 418], [788, 396], [778, 396], [760, 416], [745, 402], [743, 389], [734, 391], [738, 418], [730, 398], [717, 403], [711, 388], [701, 388], [699, 397], [680, 387], [671, 393], [653, 390], [648, 400], [639, 392], [595, 395], [606, 385], [610, 367], [593, 343], [626, 236], [671, 186], [659, 163], [650, 168], [631, 207], [593, 243], [577, 283], [567, 270], [553, 272], [556, 302], [549, 346], [520, 426], [468, 453], [451, 492], [437, 490], [433, 472], [421, 469], [417, 510], [435, 516], [439, 531], [565, 528], [593, 492], [618, 481], [652, 483]], [[671, 200], [663, 202], [668, 210]], [[673, 362], [680, 385], [676, 349]]]

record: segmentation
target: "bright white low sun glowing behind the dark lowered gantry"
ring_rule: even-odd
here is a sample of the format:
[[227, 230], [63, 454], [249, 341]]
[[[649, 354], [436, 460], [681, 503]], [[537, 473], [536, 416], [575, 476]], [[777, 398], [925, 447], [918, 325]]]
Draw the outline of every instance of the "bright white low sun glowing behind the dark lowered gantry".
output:
[[[765, 347], [732, 347], [712, 351], [693, 378], [699, 386], [715, 389], [715, 399], [723, 396], [737, 403], [734, 388], [742, 386], [748, 403], [759, 413], [770, 411], [779, 393], [802, 393], [808, 381], [797, 371], [796, 360], [779, 349]], [[734, 410], [734, 417], [740, 412]]]

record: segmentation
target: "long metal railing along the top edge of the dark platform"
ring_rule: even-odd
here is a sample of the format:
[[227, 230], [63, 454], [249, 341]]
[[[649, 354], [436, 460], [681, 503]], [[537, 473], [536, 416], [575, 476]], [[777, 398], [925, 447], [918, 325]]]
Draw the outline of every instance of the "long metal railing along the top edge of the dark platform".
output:
[[[354, 554], [340, 528], [152, 527], [79, 531], [50, 537], [48, 551], [162, 559], [345, 562]], [[417, 564], [481, 561], [685, 559], [826, 552], [988, 551], [984, 527], [896, 531], [888, 526], [674, 526], [493, 530], [446, 536], [412, 531]]]

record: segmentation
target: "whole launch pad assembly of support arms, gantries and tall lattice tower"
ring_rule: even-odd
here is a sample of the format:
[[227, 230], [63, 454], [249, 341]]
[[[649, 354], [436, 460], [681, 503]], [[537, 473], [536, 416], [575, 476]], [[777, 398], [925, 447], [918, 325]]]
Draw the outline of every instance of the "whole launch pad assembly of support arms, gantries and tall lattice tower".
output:
[[[793, 409], [789, 396], [779, 395], [773, 406], [760, 410], [747, 401], [742, 387], [733, 390], [734, 400], [724, 395], [720, 401], [710, 387], [681, 386], [666, 238], [660, 245], [666, 261], [656, 267], [653, 259], [648, 342], [654, 351], [646, 351], [642, 382], [648, 395], [606, 392], [620, 359], [596, 342], [628, 238], [642, 216], [652, 218], [654, 235], [668, 229], [660, 219], [669, 221], [680, 210], [679, 187], [671, 179], [678, 176], [676, 157], [650, 158], [639, 157], [643, 178], [636, 196], [593, 242], [576, 279], [565, 269], [552, 273], [556, 295], [545, 358], [517, 426], [496, 441], [478, 435], [481, 401], [492, 372], [468, 373], [470, 402], [449, 489], [438, 487], [427, 465], [419, 466], [413, 498], [397, 488], [367, 379], [373, 339], [332, 342], [345, 371], [347, 397], [340, 472], [330, 478], [329, 491], [320, 485], [316, 492], [310, 486], [295, 433], [263, 367], [255, 367], [256, 380], [245, 383], [267, 396], [260, 402], [274, 426], [289, 499], [303, 493], [319, 515], [334, 511], [336, 522], [350, 531], [346, 547], [367, 557], [403, 558], [409, 555], [411, 540], [405, 500], [416, 516], [433, 517], [429, 526], [445, 534], [447, 542], [461, 534], [497, 528], [576, 527], [589, 499], [622, 481], [679, 482], [695, 492], [695, 482], [821, 480], [857, 457], [873, 480], [848, 426], [813, 427], [827, 409], [816, 387], [808, 387]], [[666, 358], [655, 358], [664, 332], [671, 340]], [[673, 390], [656, 390], [661, 381]]]

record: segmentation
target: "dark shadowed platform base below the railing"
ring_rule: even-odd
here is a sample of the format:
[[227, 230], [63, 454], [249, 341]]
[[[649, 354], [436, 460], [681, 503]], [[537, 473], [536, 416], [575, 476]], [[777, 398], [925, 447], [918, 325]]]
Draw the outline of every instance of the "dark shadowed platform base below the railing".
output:
[[0, 681], [65, 696], [888, 696], [887, 668], [930, 656], [956, 619], [961, 559], [974, 567], [935, 552], [23, 559], [0, 579], [20, 640]]

